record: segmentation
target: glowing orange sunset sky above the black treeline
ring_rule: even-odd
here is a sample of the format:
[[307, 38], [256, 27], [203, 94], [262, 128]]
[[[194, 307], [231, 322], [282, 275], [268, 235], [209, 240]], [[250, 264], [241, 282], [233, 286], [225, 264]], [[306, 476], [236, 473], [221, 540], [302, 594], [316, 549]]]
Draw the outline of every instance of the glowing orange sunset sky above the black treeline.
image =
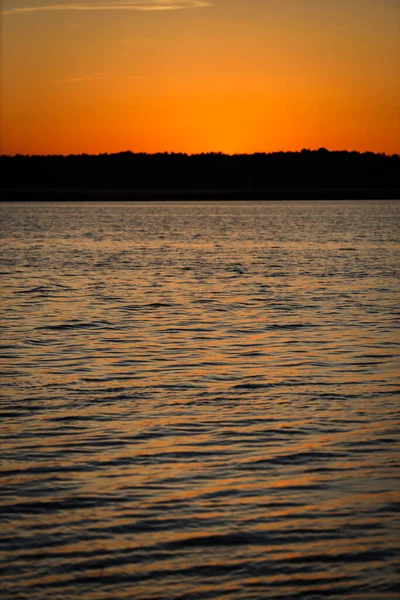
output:
[[400, 154], [400, 0], [0, 0], [0, 153]]

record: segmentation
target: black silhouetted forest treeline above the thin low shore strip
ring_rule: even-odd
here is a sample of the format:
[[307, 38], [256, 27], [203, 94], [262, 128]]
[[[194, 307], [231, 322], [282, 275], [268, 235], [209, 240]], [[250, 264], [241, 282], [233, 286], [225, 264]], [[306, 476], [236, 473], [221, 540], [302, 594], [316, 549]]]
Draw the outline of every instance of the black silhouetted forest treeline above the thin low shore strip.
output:
[[3, 190], [399, 190], [400, 156], [272, 154], [0, 156]]

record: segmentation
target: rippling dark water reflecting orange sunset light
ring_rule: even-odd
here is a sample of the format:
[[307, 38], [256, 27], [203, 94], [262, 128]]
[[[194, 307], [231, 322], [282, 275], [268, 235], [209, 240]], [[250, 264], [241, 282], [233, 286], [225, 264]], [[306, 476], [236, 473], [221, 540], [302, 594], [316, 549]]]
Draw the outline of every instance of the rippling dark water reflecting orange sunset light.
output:
[[0, 221], [2, 598], [398, 598], [400, 203]]

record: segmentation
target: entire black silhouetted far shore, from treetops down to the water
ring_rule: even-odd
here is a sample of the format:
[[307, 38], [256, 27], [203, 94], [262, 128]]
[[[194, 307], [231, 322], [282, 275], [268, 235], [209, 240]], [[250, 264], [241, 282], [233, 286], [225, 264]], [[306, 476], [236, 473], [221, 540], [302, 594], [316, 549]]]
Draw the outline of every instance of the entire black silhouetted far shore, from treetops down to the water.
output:
[[5, 200], [400, 199], [400, 156], [272, 154], [0, 156]]

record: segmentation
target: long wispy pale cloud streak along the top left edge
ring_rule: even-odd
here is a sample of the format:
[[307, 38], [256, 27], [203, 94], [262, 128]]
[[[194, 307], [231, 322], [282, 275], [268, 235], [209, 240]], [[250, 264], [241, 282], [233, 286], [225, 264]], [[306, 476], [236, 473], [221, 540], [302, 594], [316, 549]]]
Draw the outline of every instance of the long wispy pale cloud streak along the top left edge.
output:
[[182, 10], [186, 8], [202, 8], [212, 6], [208, 0], [84, 0], [65, 2], [62, 4], [39, 4], [0, 10], [0, 15], [23, 15], [35, 12], [50, 11], [105, 11], [105, 10]]

